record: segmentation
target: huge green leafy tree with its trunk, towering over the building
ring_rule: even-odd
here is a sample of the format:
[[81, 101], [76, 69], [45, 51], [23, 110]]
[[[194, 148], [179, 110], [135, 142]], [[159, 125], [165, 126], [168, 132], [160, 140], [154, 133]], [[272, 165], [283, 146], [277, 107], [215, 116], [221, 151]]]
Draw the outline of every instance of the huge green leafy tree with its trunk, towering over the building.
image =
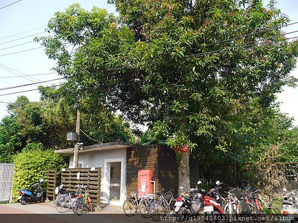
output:
[[[170, 147], [227, 152], [236, 123], [294, 85], [297, 43], [273, 1], [109, 2], [119, 17], [74, 4], [37, 40], [82, 100], [157, 126]], [[178, 155], [179, 186], [189, 188], [190, 152]]]

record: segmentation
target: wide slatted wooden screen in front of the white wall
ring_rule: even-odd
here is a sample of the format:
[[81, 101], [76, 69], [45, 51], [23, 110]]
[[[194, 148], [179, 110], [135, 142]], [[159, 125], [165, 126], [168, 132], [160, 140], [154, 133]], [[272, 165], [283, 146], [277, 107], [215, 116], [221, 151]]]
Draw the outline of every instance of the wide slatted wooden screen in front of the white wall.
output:
[[[92, 204], [99, 207], [101, 167], [98, 168], [67, 168], [62, 170], [62, 182], [64, 188], [69, 191], [77, 191], [76, 185], [89, 185], [88, 193]], [[64, 181], [63, 181], [64, 180]]]

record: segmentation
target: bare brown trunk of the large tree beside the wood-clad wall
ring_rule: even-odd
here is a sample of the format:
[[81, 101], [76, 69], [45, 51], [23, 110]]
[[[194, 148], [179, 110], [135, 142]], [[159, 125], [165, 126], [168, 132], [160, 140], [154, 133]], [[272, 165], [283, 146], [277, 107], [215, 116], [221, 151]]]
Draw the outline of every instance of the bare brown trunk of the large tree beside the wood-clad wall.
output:
[[[189, 175], [189, 151], [182, 153], [178, 164], [178, 194], [183, 194], [190, 189], [190, 175]], [[181, 189], [180, 187], [183, 187]]]

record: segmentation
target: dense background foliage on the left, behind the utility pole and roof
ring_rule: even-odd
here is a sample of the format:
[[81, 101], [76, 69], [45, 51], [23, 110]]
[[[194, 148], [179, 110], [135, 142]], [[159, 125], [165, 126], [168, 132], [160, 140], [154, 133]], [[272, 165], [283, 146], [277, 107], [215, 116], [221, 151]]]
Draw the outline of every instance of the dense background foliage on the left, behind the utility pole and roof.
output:
[[[66, 133], [75, 130], [76, 109], [68, 100], [65, 88], [40, 88], [41, 100], [29, 102], [20, 96], [8, 104], [10, 113], [0, 123], [0, 163], [9, 163], [13, 154], [21, 152], [29, 143], [41, 143], [45, 148], [65, 149], [74, 145], [66, 140]], [[90, 108], [81, 102], [80, 141], [84, 145], [99, 142], [124, 141], [133, 138], [128, 122], [121, 115], [101, 108]]]

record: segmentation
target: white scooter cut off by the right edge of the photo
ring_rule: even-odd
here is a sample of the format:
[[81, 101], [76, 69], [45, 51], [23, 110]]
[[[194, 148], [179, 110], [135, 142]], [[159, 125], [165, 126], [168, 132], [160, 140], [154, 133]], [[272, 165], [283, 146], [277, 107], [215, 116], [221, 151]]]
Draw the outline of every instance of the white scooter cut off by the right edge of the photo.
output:
[[[287, 189], [283, 188], [283, 191], [287, 192]], [[283, 217], [285, 217], [285, 220], [283, 220], [282, 222], [298, 222], [298, 190], [289, 192], [284, 196], [281, 213]]]

